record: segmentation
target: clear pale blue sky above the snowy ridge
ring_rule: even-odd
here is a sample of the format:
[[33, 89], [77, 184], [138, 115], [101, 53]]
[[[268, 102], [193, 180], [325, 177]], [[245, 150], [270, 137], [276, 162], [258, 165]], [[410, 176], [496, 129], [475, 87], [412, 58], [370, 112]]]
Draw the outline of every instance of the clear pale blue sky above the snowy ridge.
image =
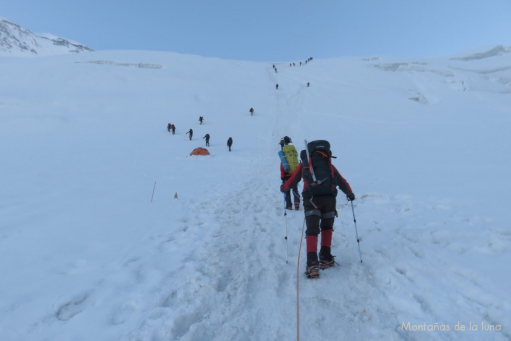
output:
[[511, 45], [510, 0], [11, 0], [0, 17], [94, 50], [252, 61], [447, 56]]

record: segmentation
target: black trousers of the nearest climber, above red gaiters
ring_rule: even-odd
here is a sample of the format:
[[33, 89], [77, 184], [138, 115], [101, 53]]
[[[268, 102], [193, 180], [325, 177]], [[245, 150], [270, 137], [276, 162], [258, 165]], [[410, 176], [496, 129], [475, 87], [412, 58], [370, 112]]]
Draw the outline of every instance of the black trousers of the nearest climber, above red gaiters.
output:
[[304, 211], [307, 236], [317, 236], [322, 230], [332, 230], [335, 220], [335, 196], [314, 195], [312, 201], [317, 208], [311, 203], [311, 197], [304, 198]]

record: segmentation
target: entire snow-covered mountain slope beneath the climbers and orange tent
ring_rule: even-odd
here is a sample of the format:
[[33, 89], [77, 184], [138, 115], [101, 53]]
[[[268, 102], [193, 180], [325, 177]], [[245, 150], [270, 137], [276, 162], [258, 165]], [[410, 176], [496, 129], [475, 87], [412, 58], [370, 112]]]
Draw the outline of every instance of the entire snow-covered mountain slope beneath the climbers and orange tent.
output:
[[[511, 55], [272, 64], [0, 58], [0, 339], [511, 339]], [[284, 135], [331, 142], [362, 264], [339, 194], [340, 266], [297, 269]]]

